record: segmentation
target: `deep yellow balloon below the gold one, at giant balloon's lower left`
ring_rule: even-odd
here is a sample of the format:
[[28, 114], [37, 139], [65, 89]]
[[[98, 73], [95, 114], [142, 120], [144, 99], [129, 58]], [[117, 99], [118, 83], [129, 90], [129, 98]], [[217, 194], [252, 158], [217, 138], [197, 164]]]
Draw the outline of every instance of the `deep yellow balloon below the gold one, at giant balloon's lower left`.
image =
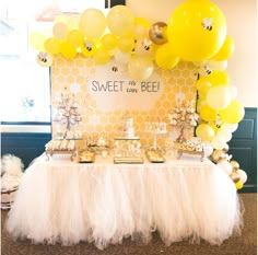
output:
[[172, 46], [169, 43], [160, 46], [155, 53], [155, 61], [157, 67], [164, 69], [172, 69], [177, 66], [180, 58], [175, 56], [172, 51]]

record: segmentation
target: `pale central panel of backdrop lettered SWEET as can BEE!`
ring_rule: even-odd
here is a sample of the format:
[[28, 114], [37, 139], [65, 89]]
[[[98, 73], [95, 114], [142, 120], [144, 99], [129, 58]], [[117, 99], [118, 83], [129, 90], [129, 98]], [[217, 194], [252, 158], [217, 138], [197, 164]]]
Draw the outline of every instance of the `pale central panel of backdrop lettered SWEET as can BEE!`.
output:
[[136, 81], [130, 78], [127, 68], [109, 61], [96, 66], [86, 86], [102, 111], [149, 111], [163, 93], [164, 82], [155, 71], [150, 79]]

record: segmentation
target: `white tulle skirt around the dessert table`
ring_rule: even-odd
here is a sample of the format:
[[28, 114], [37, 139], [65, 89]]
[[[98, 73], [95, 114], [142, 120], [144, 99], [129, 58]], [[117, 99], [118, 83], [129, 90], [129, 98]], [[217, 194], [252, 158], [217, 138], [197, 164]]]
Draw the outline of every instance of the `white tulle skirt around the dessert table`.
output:
[[243, 223], [232, 179], [210, 161], [165, 164], [78, 164], [40, 157], [23, 175], [7, 230], [34, 243], [94, 242], [124, 237], [149, 242], [188, 239], [221, 244]]

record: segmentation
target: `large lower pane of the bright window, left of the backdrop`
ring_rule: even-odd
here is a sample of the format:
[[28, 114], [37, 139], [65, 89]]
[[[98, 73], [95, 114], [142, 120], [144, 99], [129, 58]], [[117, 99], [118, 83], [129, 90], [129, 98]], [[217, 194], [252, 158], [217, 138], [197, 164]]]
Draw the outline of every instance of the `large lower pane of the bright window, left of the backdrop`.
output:
[[49, 68], [37, 65], [28, 45], [37, 24], [1, 21], [0, 25], [1, 121], [49, 123]]

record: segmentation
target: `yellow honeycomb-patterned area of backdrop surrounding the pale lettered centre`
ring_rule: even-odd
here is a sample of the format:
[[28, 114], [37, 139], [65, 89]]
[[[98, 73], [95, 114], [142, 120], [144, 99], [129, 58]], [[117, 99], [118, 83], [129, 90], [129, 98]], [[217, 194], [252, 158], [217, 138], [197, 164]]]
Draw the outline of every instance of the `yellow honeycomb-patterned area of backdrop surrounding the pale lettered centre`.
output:
[[[97, 68], [98, 66], [95, 65], [92, 58], [78, 56], [72, 60], [68, 60], [62, 57], [56, 57], [50, 70], [52, 111], [55, 111], [61, 93], [74, 93], [82, 117], [78, 128], [82, 131], [83, 138], [105, 136], [113, 139], [119, 132], [121, 118], [126, 109], [117, 105], [117, 108], [113, 111], [105, 111], [98, 106], [96, 98], [91, 95], [89, 82], [92, 76], [96, 73]], [[156, 68], [156, 72], [163, 82], [163, 91], [155, 102], [152, 102], [152, 107], [148, 109], [128, 109], [128, 113], [134, 119], [136, 135], [141, 138], [143, 146], [151, 146], [153, 142], [153, 136], [144, 131], [146, 120], [165, 121], [168, 124], [167, 115], [172, 113], [177, 98], [196, 101], [197, 96], [195, 86], [197, 68], [191, 62], [181, 61], [172, 70]], [[106, 79], [108, 79], [108, 76]], [[133, 97], [131, 101], [131, 105], [133, 105]], [[146, 104], [148, 102], [143, 103]], [[57, 128], [58, 124], [52, 121], [54, 138]], [[175, 131], [175, 127], [167, 125], [167, 135], [161, 135], [159, 139], [164, 140], [173, 129]], [[192, 136], [192, 128], [187, 134]]]

